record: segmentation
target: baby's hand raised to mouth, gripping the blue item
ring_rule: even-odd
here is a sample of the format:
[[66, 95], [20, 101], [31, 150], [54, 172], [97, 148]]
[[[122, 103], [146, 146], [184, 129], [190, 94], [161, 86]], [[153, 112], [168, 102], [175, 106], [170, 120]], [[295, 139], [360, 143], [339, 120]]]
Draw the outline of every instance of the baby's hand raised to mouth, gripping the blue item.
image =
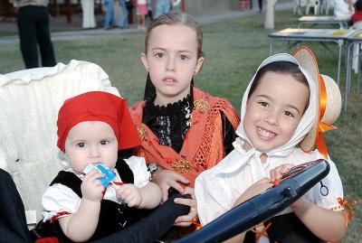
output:
[[81, 195], [83, 199], [89, 201], [101, 201], [104, 187], [98, 178], [104, 176], [100, 172], [87, 173], [81, 182]]

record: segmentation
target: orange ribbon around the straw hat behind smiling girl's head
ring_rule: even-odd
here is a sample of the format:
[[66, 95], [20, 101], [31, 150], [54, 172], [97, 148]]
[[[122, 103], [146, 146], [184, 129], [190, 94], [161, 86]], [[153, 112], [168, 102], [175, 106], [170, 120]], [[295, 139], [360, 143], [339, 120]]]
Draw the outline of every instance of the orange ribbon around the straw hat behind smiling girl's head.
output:
[[330, 130], [336, 130], [337, 126], [332, 126], [327, 123], [321, 122], [321, 119], [323, 118], [324, 113], [326, 112], [326, 107], [327, 107], [327, 89], [326, 85], [324, 84], [323, 78], [319, 75], [319, 120], [317, 128], [316, 145], [319, 153], [323, 154], [323, 156], [327, 159], [328, 150], [322, 134]]

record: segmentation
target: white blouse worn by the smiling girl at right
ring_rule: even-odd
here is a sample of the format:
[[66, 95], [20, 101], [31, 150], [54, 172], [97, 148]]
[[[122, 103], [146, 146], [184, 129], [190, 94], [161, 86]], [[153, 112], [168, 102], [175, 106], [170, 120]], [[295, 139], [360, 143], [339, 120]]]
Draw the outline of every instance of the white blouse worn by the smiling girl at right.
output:
[[[260, 152], [246, 152], [242, 145], [243, 139], [236, 138], [233, 142], [233, 151], [219, 164], [199, 174], [195, 180], [197, 212], [203, 225], [231, 210], [233, 203], [253, 183], [263, 177], [270, 178], [271, 169], [281, 164], [298, 165], [323, 158], [323, 155], [319, 154], [317, 150], [304, 153], [299, 148], [295, 148], [286, 157], [268, 157], [266, 163], [262, 164]], [[251, 158], [245, 159], [245, 157], [249, 157], [249, 154], [252, 154]], [[305, 196], [321, 208], [342, 210], [337, 200], [338, 197], [343, 198], [342, 182], [336, 165], [330, 159], [328, 162], [330, 171], [322, 183], [328, 188], [329, 193], [323, 196], [320, 193], [320, 183], [317, 183]], [[281, 214], [290, 211], [288, 208]]]

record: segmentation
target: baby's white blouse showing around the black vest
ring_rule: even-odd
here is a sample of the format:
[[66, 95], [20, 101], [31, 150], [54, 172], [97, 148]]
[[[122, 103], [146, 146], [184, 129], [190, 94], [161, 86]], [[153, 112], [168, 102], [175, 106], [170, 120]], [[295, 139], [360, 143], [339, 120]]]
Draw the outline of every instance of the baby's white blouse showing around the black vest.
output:
[[[138, 188], [144, 187], [149, 182], [150, 173], [146, 165], [146, 161], [143, 157], [131, 156], [129, 159], [124, 160], [128, 165], [134, 176], [134, 185]], [[75, 173], [73, 170], [68, 169], [67, 172], [74, 173], [81, 180], [84, 178], [83, 174]], [[119, 177], [119, 173], [116, 168], [113, 169], [113, 172], [116, 173], [116, 177], [113, 182], [122, 182]], [[116, 201], [119, 204], [122, 201], [119, 201], [116, 195], [116, 189], [109, 185], [107, 187], [106, 193], [104, 194], [103, 199]], [[71, 190], [71, 188], [62, 185], [60, 183], [53, 184], [48, 187], [43, 193], [43, 221], [50, 220], [53, 216], [55, 218], [60, 218], [66, 215], [59, 213], [66, 212], [68, 214], [74, 213], [78, 210], [81, 204], [81, 198]]]

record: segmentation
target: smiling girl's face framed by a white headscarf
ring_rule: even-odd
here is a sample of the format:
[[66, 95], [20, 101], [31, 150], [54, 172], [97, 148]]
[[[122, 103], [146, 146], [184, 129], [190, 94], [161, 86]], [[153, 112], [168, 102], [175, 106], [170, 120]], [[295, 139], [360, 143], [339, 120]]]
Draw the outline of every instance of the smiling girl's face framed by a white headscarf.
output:
[[268, 71], [248, 99], [243, 128], [252, 146], [268, 152], [294, 134], [310, 98], [310, 89], [291, 74]]

